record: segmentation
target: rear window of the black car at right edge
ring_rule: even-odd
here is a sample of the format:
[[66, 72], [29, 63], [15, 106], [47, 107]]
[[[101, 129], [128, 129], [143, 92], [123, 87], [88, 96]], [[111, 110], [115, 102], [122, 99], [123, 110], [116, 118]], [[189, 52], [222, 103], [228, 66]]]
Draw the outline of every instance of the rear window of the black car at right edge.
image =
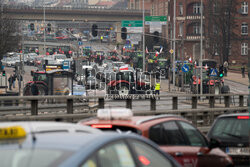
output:
[[216, 121], [211, 137], [225, 140], [248, 140], [249, 129], [248, 119], [220, 118]]

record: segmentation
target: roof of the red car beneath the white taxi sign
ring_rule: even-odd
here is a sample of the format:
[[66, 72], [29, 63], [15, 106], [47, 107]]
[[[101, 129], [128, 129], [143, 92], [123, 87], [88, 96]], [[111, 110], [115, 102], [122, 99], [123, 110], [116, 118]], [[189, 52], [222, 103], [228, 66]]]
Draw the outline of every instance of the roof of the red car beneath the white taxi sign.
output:
[[131, 125], [131, 126], [140, 126], [143, 123], [147, 123], [150, 121], [160, 120], [160, 119], [184, 119], [181, 116], [178, 115], [172, 115], [172, 114], [164, 114], [164, 115], [157, 115], [157, 116], [133, 116], [129, 120], [121, 120], [121, 119], [112, 119], [112, 120], [103, 120], [98, 119], [97, 117], [93, 117], [90, 119], [84, 119], [78, 122], [78, 124], [101, 124], [101, 123], [112, 123], [117, 125]]

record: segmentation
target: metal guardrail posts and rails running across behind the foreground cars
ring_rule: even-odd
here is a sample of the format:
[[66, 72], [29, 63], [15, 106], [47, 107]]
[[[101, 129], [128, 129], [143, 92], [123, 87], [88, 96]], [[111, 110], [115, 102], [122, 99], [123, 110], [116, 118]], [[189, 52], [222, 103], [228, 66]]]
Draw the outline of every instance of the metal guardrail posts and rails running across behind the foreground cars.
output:
[[[238, 105], [237, 106], [230, 106], [231, 100], [235, 97], [238, 98]], [[114, 98], [116, 96], [113, 96]], [[133, 96], [126, 97], [125, 106], [126, 108], [133, 109]], [[172, 99], [172, 109], [157, 109], [157, 99], [158, 98], [171, 98]], [[74, 104], [74, 100], [79, 100], [79, 96], [5, 96], [0, 97], [1, 101], [14, 101], [16, 102], [29, 102], [30, 107], [20, 108], [20, 112], [13, 111], [8, 107], [8, 110], [4, 110], [4, 107], [0, 109], [0, 121], [17, 121], [17, 120], [67, 120], [67, 121], [76, 121], [77, 119], [83, 119], [87, 117], [94, 116], [93, 112], [95, 112], [99, 108], [105, 107], [105, 99], [112, 98], [112, 96], [90, 96], [84, 97], [84, 100], [97, 100], [97, 104], [93, 105], [92, 107], [88, 107], [87, 110], [84, 112], [74, 112], [74, 108], [77, 108], [77, 104]], [[186, 98], [189, 102], [191, 108], [190, 109], [178, 109], [178, 99]], [[199, 105], [199, 98], [207, 98], [207, 107], [206, 108], [198, 108]], [[215, 99], [223, 98], [224, 104], [220, 104], [219, 106], [215, 105]], [[177, 114], [181, 115], [193, 122], [194, 125], [197, 127], [207, 127], [212, 124], [214, 119], [223, 113], [234, 113], [234, 112], [246, 112], [248, 107], [245, 105], [246, 98], [248, 94], [221, 94], [221, 95], [211, 95], [211, 94], [204, 94], [204, 95], [191, 95], [191, 94], [168, 94], [168, 95], [160, 95], [160, 96], [153, 96], [148, 95], [148, 102], [150, 103], [149, 111], [146, 109], [141, 111], [134, 112], [134, 115], [158, 115], [158, 114]], [[244, 101], [245, 99], [245, 101]], [[38, 103], [40, 101], [63, 101], [64, 105], [61, 106], [61, 109], [66, 110], [63, 113], [55, 113], [51, 112], [54, 111], [56, 107], [53, 108], [52, 106], [49, 107], [48, 105], [48, 112], [45, 114], [41, 112], [41, 110], [46, 109], [46, 106], [39, 106]], [[164, 100], [164, 99], [163, 99]], [[165, 99], [166, 100], [166, 99]], [[118, 103], [121, 102], [120, 100], [117, 101]], [[248, 101], [249, 102], [249, 101]], [[65, 105], [66, 103], [66, 105]], [[79, 103], [78, 103], [79, 104]], [[60, 108], [60, 107], [59, 107]], [[145, 106], [144, 106], [145, 108]], [[25, 111], [24, 111], [25, 110]], [[38, 113], [38, 111], [40, 113]], [[11, 115], [16, 114], [16, 115]], [[21, 115], [18, 115], [21, 114]], [[22, 115], [23, 114], [23, 115]], [[8, 115], [8, 116], [7, 116]]]

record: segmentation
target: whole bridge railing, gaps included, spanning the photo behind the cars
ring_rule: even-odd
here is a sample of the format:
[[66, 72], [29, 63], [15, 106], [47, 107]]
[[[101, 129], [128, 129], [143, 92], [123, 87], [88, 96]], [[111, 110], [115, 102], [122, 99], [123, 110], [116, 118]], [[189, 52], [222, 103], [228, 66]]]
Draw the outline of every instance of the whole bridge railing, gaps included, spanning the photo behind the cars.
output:
[[[0, 121], [17, 120], [70, 120], [91, 117], [105, 103], [116, 103], [120, 107], [133, 110], [134, 115], [177, 114], [193, 122], [198, 127], [210, 126], [214, 119], [223, 113], [246, 112], [249, 106], [248, 94], [191, 95], [168, 94], [160, 96], [6, 96], [0, 97]], [[137, 97], [137, 98], [138, 98]], [[160, 98], [160, 100], [158, 99]], [[147, 101], [147, 105], [139, 102]], [[185, 107], [179, 109], [180, 102]], [[10, 104], [14, 106], [10, 106]], [[158, 109], [160, 105], [163, 108]], [[189, 106], [189, 107], [188, 107]], [[147, 108], [148, 107], [148, 108]]]

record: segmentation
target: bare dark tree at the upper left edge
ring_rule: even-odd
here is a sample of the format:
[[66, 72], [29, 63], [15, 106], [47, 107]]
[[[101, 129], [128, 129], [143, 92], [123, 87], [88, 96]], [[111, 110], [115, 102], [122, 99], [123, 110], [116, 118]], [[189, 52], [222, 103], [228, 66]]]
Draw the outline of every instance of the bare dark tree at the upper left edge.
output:
[[18, 22], [10, 19], [5, 12], [3, 1], [0, 0], [0, 60], [7, 52], [18, 49], [20, 37], [18, 33]]

